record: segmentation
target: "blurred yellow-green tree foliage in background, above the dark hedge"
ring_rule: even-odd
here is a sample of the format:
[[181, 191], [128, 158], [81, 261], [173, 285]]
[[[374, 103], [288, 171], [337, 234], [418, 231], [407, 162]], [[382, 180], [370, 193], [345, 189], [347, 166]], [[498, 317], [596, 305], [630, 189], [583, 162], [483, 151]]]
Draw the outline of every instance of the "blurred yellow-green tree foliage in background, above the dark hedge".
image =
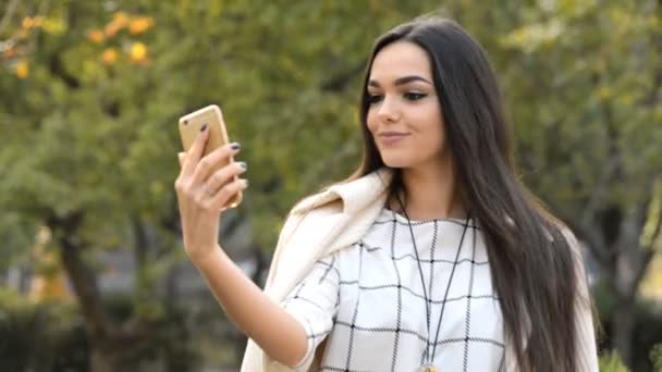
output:
[[[439, 7], [431, 0], [10, 2], [14, 13], [0, 26], [7, 41], [0, 49], [0, 270], [29, 261], [41, 225], [81, 213], [71, 238], [91, 248], [93, 261], [105, 250], [135, 248], [136, 220], [154, 228], [157, 243], [146, 247], [149, 264], [138, 275], [147, 282], [183, 259], [173, 223], [180, 115], [222, 107], [231, 138], [243, 145], [238, 158], [249, 164], [252, 186], [238, 213], [250, 221], [250, 243], [270, 251], [296, 200], [358, 164], [356, 103], [372, 40]], [[575, 226], [590, 208], [627, 213], [659, 200], [651, 197], [662, 170], [659, 5], [443, 3], [441, 12], [490, 54], [523, 178], [564, 221]], [[150, 300], [127, 313], [164, 317], [159, 299]]]

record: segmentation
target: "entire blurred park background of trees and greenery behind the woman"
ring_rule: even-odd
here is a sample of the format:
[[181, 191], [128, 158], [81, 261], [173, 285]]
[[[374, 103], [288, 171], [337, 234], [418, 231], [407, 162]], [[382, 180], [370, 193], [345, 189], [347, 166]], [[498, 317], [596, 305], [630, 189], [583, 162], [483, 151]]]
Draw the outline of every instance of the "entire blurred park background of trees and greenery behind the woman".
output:
[[177, 117], [210, 103], [250, 187], [220, 239], [262, 283], [289, 209], [360, 158], [373, 39], [488, 50], [522, 178], [585, 246], [603, 371], [662, 371], [662, 1], [0, 0], [0, 370], [237, 371], [183, 253]]

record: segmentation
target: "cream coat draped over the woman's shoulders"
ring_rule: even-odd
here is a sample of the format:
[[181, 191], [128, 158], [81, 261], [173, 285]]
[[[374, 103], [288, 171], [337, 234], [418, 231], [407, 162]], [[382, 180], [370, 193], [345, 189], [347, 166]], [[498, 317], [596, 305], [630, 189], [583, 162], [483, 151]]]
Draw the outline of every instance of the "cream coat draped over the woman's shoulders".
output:
[[[285, 221], [273, 253], [265, 286], [267, 296], [279, 302], [284, 300], [318, 259], [363, 238], [385, 204], [392, 176], [390, 170], [382, 169], [354, 182], [331, 186], [295, 206]], [[580, 266], [580, 277], [584, 277]], [[585, 350], [581, 352], [584, 362], [579, 371], [598, 371], [590, 310], [586, 308], [578, 315], [578, 347]], [[517, 371], [513, 360], [506, 343], [508, 372]], [[318, 369], [319, 355], [309, 371]], [[290, 370], [269, 358], [252, 339], [248, 340], [242, 372]]]

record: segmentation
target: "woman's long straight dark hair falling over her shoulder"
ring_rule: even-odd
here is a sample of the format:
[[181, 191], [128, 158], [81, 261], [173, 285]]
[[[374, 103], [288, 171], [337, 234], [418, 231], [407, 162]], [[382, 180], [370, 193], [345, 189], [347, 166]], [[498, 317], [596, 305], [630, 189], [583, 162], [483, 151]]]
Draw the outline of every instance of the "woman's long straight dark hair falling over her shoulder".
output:
[[[485, 234], [506, 344], [519, 369], [577, 371], [578, 258], [564, 238], [565, 227], [519, 183], [494, 72], [482, 47], [459, 25], [428, 16], [377, 39], [360, 98], [363, 161], [346, 181], [384, 166], [366, 123], [367, 84], [375, 55], [403, 40], [430, 57], [458, 185]], [[402, 190], [395, 170], [390, 191]]]

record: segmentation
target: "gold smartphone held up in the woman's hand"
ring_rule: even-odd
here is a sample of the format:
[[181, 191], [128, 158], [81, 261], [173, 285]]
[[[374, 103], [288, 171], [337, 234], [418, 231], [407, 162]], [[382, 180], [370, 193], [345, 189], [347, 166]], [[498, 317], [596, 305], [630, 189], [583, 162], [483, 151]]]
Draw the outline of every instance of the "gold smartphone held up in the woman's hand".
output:
[[[184, 151], [188, 151], [188, 149], [193, 146], [193, 142], [195, 142], [195, 139], [200, 133], [200, 128], [205, 124], [207, 124], [209, 127], [209, 139], [207, 140], [207, 145], [203, 150], [203, 157], [221, 146], [230, 144], [230, 139], [228, 138], [228, 129], [225, 129], [225, 122], [223, 121], [223, 113], [218, 106], [210, 104], [180, 117], [180, 136], [182, 137], [182, 146], [184, 147]], [[216, 172], [231, 162], [234, 162], [233, 157], [230, 157], [228, 162], [220, 162], [217, 164], [212, 169], [212, 172]], [[234, 178], [236, 179], [237, 177], [235, 176]], [[242, 202], [242, 199], [243, 193], [240, 191], [232, 200], [230, 200], [230, 204], [226, 206], [226, 208], [236, 208]]]

